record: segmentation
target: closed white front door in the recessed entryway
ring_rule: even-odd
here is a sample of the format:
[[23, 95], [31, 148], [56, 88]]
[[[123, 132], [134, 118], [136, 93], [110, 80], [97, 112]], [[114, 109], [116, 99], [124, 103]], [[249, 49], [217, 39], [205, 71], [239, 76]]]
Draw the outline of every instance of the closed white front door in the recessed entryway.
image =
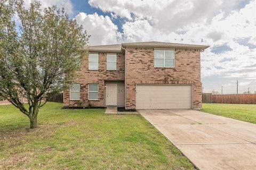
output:
[[117, 101], [117, 86], [116, 84], [107, 84], [106, 89], [106, 105], [107, 106], [116, 106]]

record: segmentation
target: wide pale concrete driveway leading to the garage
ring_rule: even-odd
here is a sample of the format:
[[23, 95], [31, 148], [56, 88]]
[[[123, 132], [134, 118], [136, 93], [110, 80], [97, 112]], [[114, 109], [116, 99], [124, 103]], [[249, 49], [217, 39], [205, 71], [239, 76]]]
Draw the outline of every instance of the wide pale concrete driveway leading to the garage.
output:
[[141, 110], [199, 169], [256, 169], [256, 125], [194, 110]]

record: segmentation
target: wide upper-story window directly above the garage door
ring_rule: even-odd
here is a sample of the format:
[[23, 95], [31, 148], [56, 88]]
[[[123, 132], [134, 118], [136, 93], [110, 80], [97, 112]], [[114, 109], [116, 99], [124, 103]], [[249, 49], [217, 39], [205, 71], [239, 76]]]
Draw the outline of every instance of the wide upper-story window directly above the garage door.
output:
[[155, 67], [175, 67], [175, 50], [154, 50]]

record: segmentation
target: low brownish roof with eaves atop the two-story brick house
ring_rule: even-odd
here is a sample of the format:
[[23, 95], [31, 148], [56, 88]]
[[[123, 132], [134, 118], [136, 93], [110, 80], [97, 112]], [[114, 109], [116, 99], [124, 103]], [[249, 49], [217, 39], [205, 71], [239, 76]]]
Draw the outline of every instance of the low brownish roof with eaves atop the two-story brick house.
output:
[[113, 45], [87, 46], [85, 47], [85, 49], [89, 49], [89, 51], [91, 52], [122, 52], [122, 47], [124, 48], [125, 47], [189, 48], [189, 49], [204, 50], [210, 46], [150, 41], [150, 42], [139, 42], [139, 43], [122, 43], [122, 44], [113, 44]]

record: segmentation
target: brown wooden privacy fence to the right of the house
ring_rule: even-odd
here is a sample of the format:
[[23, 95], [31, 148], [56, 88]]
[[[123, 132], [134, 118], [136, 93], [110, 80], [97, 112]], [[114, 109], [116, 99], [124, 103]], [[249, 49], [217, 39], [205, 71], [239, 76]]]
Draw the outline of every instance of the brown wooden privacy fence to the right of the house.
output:
[[256, 104], [256, 94], [203, 94], [203, 103]]

